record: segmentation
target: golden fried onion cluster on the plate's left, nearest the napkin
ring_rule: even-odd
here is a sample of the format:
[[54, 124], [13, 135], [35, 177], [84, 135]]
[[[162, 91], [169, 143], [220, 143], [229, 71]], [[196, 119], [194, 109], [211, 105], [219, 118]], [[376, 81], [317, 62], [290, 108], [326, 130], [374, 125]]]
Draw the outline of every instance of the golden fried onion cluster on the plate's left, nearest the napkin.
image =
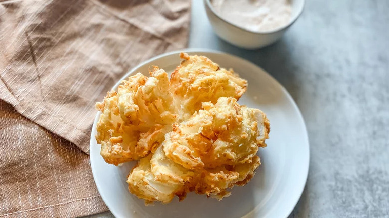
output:
[[118, 92], [110, 91], [97, 123], [97, 143], [107, 163], [118, 165], [149, 154], [171, 130], [176, 120], [168, 74], [158, 67], [150, 77], [141, 73], [122, 81]]

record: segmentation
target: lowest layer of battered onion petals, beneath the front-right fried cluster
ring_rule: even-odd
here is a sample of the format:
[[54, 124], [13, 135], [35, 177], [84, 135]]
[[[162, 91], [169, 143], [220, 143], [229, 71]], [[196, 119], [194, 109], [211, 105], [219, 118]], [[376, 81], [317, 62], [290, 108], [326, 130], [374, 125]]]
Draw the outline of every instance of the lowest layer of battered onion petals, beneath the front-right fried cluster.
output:
[[146, 204], [167, 204], [176, 195], [183, 200], [191, 191], [221, 200], [230, 195], [229, 188], [249, 182], [260, 165], [254, 156], [249, 163], [190, 170], [167, 158], [162, 147], [142, 158], [127, 178], [129, 191]]

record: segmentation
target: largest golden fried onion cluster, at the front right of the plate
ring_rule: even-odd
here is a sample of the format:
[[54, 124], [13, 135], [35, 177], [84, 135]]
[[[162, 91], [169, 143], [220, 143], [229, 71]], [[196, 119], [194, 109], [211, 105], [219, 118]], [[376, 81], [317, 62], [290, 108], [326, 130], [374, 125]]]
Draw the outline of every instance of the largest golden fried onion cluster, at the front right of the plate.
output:
[[173, 124], [157, 150], [141, 159], [127, 180], [131, 193], [147, 203], [169, 203], [175, 195], [182, 200], [191, 191], [221, 200], [229, 188], [253, 177], [258, 147], [266, 146], [270, 130], [266, 115], [232, 97], [202, 105], [188, 121]]

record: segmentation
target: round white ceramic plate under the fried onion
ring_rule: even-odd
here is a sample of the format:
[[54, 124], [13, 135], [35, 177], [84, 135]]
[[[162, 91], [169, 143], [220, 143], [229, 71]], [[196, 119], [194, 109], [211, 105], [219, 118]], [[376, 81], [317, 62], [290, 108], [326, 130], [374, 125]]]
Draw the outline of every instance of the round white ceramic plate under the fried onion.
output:
[[[214, 52], [186, 50], [190, 55], [205, 55], [224, 68], [248, 80], [248, 89], [240, 104], [264, 111], [270, 120], [267, 147], [259, 149], [262, 164], [254, 178], [244, 187], [234, 187], [232, 195], [222, 201], [189, 193], [179, 202], [155, 203], [146, 207], [144, 201], [128, 192], [126, 178], [132, 163], [120, 167], [104, 162], [96, 143], [96, 115], [90, 140], [90, 162], [93, 177], [105, 204], [117, 218], [285, 218], [296, 205], [304, 190], [309, 168], [309, 143], [303, 117], [295, 102], [273, 77], [258, 66], [235, 56]], [[135, 67], [122, 79], [137, 72], [148, 74], [152, 65], [172, 72], [180, 63], [179, 51], [154, 57]], [[121, 80], [122, 80], [121, 79]], [[116, 89], [119, 82], [113, 87]]]

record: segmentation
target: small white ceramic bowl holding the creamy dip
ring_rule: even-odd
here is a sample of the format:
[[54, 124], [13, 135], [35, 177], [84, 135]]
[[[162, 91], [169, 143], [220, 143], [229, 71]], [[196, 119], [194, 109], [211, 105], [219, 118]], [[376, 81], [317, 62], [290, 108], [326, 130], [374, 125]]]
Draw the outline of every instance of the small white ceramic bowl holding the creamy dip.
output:
[[272, 31], [252, 31], [228, 22], [213, 9], [210, 0], [204, 0], [206, 14], [215, 33], [225, 41], [242, 48], [262, 48], [276, 42], [297, 20], [304, 8], [305, 0], [291, 0], [292, 17], [282, 28]]

